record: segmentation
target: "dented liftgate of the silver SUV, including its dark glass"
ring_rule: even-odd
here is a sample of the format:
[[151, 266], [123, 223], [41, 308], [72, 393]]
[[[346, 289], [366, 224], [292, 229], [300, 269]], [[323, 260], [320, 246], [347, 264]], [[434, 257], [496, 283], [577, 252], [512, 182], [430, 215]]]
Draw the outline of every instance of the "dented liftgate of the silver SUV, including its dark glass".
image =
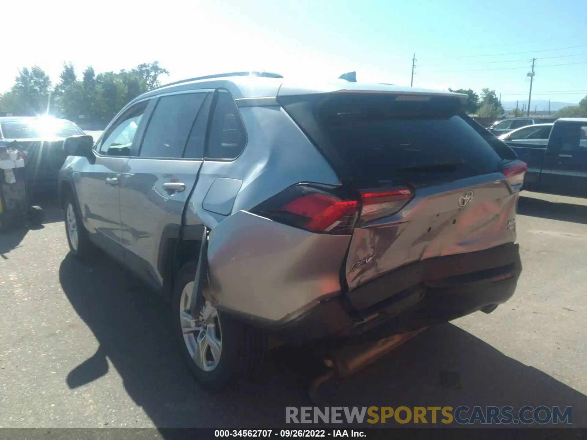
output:
[[455, 99], [355, 92], [282, 101], [361, 194], [350, 290], [420, 259], [515, 241], [517, 193], [501, 174], [515, 154]]

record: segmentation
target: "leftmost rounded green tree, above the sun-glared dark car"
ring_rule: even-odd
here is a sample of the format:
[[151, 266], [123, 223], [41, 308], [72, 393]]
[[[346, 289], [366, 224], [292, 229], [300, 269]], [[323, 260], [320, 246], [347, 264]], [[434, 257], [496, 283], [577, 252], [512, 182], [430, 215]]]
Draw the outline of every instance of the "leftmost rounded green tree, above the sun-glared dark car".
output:
[[2, 95], [4, 111], [15, 116], [36, 116], [47, 111], [51, 81], [39, 66], [23, 67], [10, 92]]

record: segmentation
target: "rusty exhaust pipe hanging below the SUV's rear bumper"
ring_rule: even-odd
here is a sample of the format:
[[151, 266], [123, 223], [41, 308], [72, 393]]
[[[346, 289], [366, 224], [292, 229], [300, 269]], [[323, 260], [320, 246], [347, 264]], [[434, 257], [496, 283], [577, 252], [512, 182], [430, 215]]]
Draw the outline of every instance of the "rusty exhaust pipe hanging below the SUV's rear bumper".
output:
[[309, 390], [310, 398], [316, 406], [328, 406], [325, 405], [325, 400], [318, 393], [318, 388], [323, 383], [333, 377], [345, 378], [357, 373], [357, 371], [382, 358], [394, 348], [399, 347], [424, 330], [426, 328], [410, 331], [409, 333], [395, 334], [374, 342], [349, 344], [330, 351], [326, 355], [324, 363], [332, 370], [312, 382]]

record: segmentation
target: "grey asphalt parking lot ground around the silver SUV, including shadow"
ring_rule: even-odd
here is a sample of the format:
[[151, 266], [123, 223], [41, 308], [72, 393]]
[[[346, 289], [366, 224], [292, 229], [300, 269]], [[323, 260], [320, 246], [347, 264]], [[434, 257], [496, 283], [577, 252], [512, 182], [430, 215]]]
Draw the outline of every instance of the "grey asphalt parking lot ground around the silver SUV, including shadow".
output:
[[[214, 395], [176, 352], [168, 306], [112, 260], [68, 256], [62, 214], [0, 235], [0, 427], [278, 427], [312, 405], [318, 366], [277, 348], [261, 377]], [[345, 381], [332, 405], [572, 406], [587, 427], [587, 201], [525, 193], [524, 270], [492, 314], [434, 327]]]

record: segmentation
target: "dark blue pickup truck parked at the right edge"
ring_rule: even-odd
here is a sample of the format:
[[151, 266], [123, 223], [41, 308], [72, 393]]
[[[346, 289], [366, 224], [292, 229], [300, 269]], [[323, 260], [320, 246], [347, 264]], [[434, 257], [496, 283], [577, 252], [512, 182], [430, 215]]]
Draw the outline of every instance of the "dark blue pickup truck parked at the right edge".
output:
[[[544, 137], [547, 130], [545, 127], [541, 136], [536, 136]], [[587, 197], [586, 133], [587, 119], [561, 118], [552, 124], [546, 139], [521, 144], [517, 139], [505, 138], [504, 142], [528, 164], [524, 189]]]

